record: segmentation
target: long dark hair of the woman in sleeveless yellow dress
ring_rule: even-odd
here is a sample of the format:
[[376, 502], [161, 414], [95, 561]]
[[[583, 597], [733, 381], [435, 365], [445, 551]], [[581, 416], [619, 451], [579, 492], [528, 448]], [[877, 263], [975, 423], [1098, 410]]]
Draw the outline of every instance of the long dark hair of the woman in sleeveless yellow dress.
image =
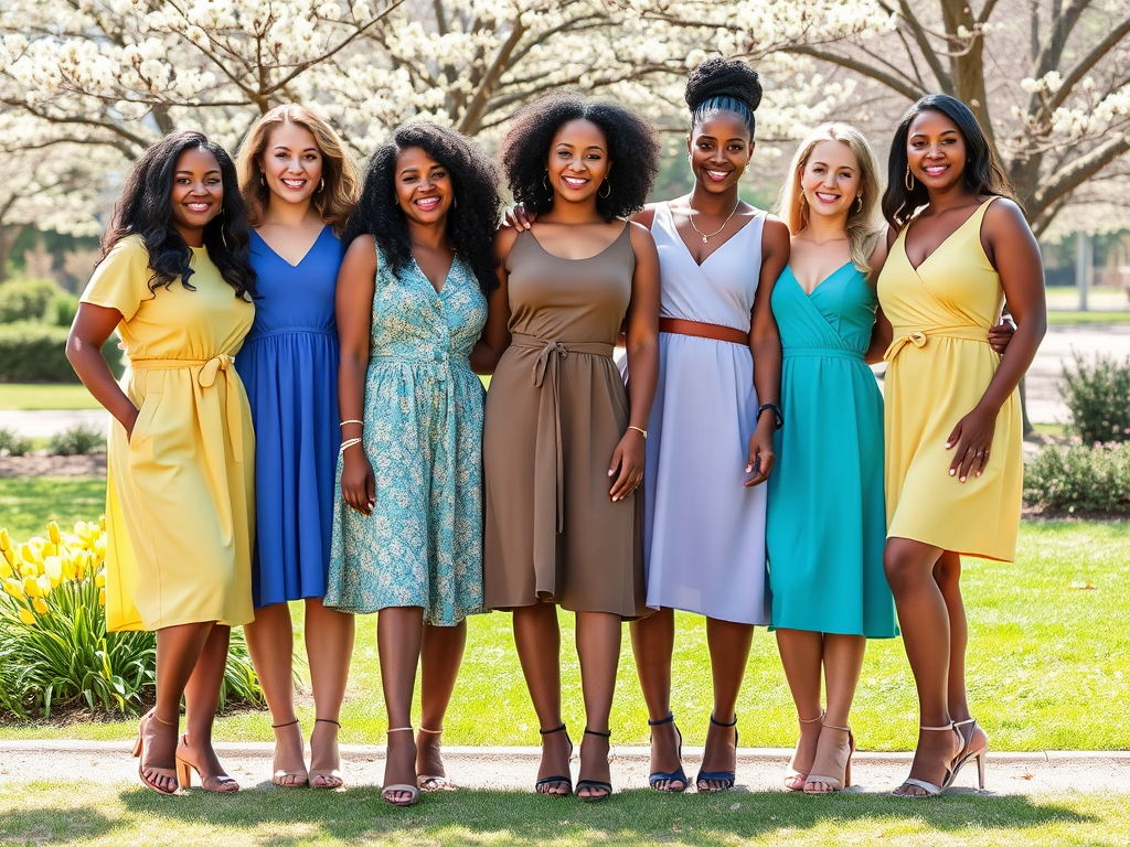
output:
[[906, 156], [906, 139], [910, 137], [914, 119], [927, 111], [940, 112], [957, 124], [965, 139], [965, 168], [962, 177], [971, 194], [1007, 197], [1015, 201], [1016, 194], [1009, 185], [1008, 177], [989, 146], [989, 140], [977, 123], [973, 112], [956, 97], [948, 94], [928, 94], [920, 97], [906, 110], [902, 121], [895, 128], [895, 137], [890, 141], [890, 157], [887, 160], [887, 191], [883, 195], [883, 217], [895, 229], [902, 229], [914, 212], [930, 202], [930, 192], [919, 180], [912, 187], [906, 187], [909, 158]]

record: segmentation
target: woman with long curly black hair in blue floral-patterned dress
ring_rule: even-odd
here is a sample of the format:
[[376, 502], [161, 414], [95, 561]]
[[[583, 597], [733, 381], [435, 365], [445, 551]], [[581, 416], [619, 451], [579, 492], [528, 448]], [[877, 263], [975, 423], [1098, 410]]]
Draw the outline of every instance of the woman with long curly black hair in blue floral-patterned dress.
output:
[[[325, 602], [380, 612], [382, 796], [450, 787], [440, 733], [483, 609], [483, 400], [498, 175], [453, 130], [400, 126], [365, 172], [338, 278], [342, 443]], [[421, 664], [420, 734], [411, 732]]]

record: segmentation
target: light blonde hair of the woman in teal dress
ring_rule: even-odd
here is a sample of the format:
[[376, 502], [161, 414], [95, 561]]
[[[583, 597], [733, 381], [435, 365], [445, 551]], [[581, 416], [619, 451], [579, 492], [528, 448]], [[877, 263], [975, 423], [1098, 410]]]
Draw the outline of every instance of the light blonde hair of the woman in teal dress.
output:
[[797, 155], [792, 157], [789, 178], [781, 187], [781, 199], [777, 202], [781, 219], [793, 235], [801, 233], [808, 226], [808, 203], [800, 187], [800, 176], [808, 165], [812, 150], [822, 141], [838, 141], [847, 148], [859, 164], [859, 187], [862, 208], [854, 200], [847, 211], [847, 244], [851, 247], [851, 261], [863, 273], [871, 272], [868, 261], [875, 247], [881, 227], [878, 222], [879, 208], [879, 164], [875, 152], [863, 133], [847, 123], [825, 123], [800, 142]]

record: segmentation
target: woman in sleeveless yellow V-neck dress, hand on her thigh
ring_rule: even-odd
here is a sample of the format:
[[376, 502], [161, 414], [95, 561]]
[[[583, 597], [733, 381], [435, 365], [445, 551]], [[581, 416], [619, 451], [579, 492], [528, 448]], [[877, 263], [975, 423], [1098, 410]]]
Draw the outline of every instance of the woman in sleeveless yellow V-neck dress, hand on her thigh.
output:
[[[1036, 241], [973, 113], [921, 98], [890, 147], [878, 281], [886, 376], [884, 569], [918, 686], [920, 733], [895, 794], [940, 794], [988, 737], [970, 716], [960, 556], [1011, 561], [1024, 463], [1017, 385], [1046, 328]], [[989, 329], [1008, 300], [1003, 356]]]

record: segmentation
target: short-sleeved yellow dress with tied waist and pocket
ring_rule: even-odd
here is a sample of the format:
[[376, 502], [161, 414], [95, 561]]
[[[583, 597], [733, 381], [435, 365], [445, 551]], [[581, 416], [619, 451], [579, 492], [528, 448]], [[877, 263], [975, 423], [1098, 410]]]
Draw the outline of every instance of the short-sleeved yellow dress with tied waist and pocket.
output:
[[103, 260], [82, 303], [121, 313], [139, 408], [130, 439], [111, 422], [106, 473], [106, 614], [111, 630], [254, 619], [254, 430], [234, 356], [255, 307], [235, 297], [208, 251], [181, 280], [149, 289], [139, 236]]

